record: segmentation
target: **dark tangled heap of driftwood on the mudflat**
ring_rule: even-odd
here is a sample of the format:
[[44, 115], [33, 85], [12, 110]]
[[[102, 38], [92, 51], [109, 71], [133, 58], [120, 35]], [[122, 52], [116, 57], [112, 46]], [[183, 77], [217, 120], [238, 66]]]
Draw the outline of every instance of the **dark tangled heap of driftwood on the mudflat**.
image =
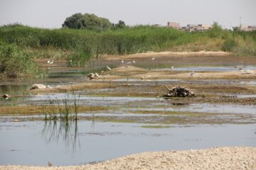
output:
[[181, 86], [174, 86], [173, 88], [169, 89], [165, 86], [166, 89], [169, 91], [166, 94], [166, 97], [192, 97], [195, 96], [193, 90], [189, 89], [188, 87], [181, 87]]

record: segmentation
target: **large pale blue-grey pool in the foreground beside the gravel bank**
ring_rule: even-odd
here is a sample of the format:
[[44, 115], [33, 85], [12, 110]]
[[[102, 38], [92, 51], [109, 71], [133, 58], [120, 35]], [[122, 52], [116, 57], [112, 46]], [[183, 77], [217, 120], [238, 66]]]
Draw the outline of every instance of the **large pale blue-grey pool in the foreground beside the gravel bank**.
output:
[[[58, 123], [55, 131], [53, 124], [49, 126], [43, 121], [1, 123], [0, 164], [47, 165], [51, 162], [55, 166], [78, 165], [148, 151], [256, 147], [255, 124], [172, 125], [160, 129], [142, 128], [144, 125], [79, 121], [76, 130], [70, 125], [65, 138], [64, 133], [57, 136], [60, 132]], [[43, 132], [44, 128], [48, 130]]]

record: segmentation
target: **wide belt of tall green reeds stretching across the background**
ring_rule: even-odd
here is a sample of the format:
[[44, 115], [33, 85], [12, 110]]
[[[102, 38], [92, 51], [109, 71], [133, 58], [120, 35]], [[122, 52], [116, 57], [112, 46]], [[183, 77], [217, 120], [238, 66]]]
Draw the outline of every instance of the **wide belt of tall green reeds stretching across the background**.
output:
[[82, 67], [92, 58], [100, 58], [104, 54], [128, 55], [146, 51], [224, 50], [232, 52], [234, 56], [256, 55], [256, 31], [230, 31], [218, 26], [205, 32], [187, 33], [154, 26], [96, 32], [67, 28], [31, 28], [13, 24], [0, 27], [0, 43], [14, 46], [18, 55], [26, 53], [27, 57], [21, 55], [23, 59], [65, 59], [72, 60], [68, 62], [70, 66]]

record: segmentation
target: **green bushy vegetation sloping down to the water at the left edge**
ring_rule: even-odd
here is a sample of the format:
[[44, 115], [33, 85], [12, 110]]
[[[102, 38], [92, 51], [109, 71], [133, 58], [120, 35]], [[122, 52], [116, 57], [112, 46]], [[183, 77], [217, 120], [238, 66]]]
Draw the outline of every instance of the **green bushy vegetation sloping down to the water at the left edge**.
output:
[[27, 52], [20, 50], [16, 45], [6, 45], [3, 42], [0, 44], [0, 77], [46, 77]]

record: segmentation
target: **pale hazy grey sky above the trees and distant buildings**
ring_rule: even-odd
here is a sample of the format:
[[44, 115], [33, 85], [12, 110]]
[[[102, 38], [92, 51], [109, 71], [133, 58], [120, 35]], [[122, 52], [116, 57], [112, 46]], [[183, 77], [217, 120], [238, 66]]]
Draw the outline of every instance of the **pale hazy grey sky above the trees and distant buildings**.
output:
[[94, 13], [129, 26], [167, 22], [256, 26], [256, 0], [0, 0], [0, 26], [61, 28], [74, 13]]

